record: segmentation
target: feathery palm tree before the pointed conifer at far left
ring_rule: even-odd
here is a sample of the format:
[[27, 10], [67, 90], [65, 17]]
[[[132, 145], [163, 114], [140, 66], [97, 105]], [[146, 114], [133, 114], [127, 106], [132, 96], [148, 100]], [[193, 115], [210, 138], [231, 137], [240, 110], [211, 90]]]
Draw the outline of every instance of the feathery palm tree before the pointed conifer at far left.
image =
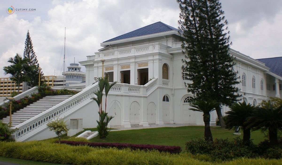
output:
[[14, 58], [10, 57], [8, 62], [11, 63], [11, 65], [3, 67], [4, 74], [10, 74], [10, 79], [16, 82], [18, 86], [19, 94], [19, 84], [24, 81], [29, 81], [29, 78], [25, 74], [25, 69], [28, 67], [27, 60], [23, 59], [21, 55], [17, 53]]

